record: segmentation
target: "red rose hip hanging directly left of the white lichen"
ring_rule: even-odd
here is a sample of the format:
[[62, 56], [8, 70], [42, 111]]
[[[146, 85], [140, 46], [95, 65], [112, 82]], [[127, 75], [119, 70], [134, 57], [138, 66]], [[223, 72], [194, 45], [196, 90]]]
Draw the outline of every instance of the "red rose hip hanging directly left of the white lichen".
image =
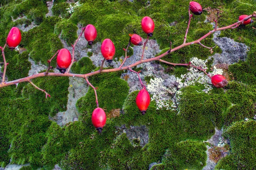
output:
[[140, 109], [142, 115], [146, 113], [148, 106], [150, 104], [150, 96], [146, 89], [141, 89], [136, 97], [137, 107]]

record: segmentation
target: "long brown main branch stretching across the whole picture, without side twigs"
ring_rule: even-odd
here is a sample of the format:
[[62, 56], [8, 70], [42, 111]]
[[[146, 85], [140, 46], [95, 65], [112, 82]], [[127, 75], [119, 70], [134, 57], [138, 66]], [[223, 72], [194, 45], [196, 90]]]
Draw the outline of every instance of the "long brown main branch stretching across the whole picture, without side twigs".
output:
[[[243, 20], [237, 22], [237, 23], [234, 23], [234, 24], [231, 24], [230, 26], [226, 26], [226, 27], [222, 27], [222, 28], [217, 28], [216, 31], [221, 31], [221, 30], [226, 30], [226, 29], [230, 29], [232, 28], [233, 26], [236, 26], [237, 24], [239, 23], [242, 23], [244, 22], [244, 20], [248, 20], [250, 19], [251, 17], [256, 17], [255, 14], [253, 15], [250, 15], [246, 18], [244, 18]], [[150, 59], [144, 59], [144, 60], [140, 60], [138, 62], [135, 62], [131, 65], [128, 65], [128, 66], [125, 66], [123, 67], [122, 69], [121, 68], [112, 68], [112, 69], [105, 69], [105, 70], [98, 70], [98, 71], [94, 71], [94, 72], [91, 72], [91, 73], [88, 73], [88, 74], [70, 74], [70, 73], [66, 73], [66, 74], [61, 74], [61, 73], [48, 73], [47, 76], [55, 76], [55, 77], [81, 77], [81, 78], [85, 78], [85, 77], [90, 77], [90, 76], [93, 76], [93, 75], [96, 75], [96, 74], [100, 74], [100, 73], [109, 73], [109, 72], [115, 72], [115, 71], [123, 71], [123, 70], [128, 70], [128, 67], [129, 68], [133, 68], [137, 65], [140, 65], [142, 63], [145, 63], [145, 62], [151, 62], [151, 61], [158, 61], [160, 60], [160, 58], [168, 55], [169, 53], [171, 52], [174, 52], [174, 51], [177, 51], [178, 49], [180, 48], [183, 48], [183, 47], [186, 47], [188, 45], [192, 45], [192, 44], [198, 44], [198, 42], [200, 42], [201, 40], [204, 40], [206, 37], [208, 37], [210, 34], [212, 34], [215, 30], [212, 30], [210, 32], [208, 32], [207, 34], [205, 34], [203, 37], [199, 38], [198, 40], [195, 40], [195, 41], [192, 41], [192, 42], [188, 42], [188, 43], [185, 43], [185, 44], [182, 44], [182, 45], [179, 45], [175, 48], [172, 48], [172, 50], [170, 52], [166, 51], [165, 53], [157, 56], [157, 57], [153, 57], [153, 58], [150, 58]], [[177, 64], [177, 65], [184, 65], [184, 64]], [[185, 64], [186, 65], [186, 64]], [[4, 83], [0, 83], [0, 88], [3, 88], [3, 87], [6, 87], [6, 86], [9, 86], [9, 85], [15, 85], [17, 83], [20, 83], [20, 82], [29, 82], [30, 80], [32, 79], [35, 79], [37, 77], [45, 77], [45, 73], [38, 73], [38, 74], [34, 74], [32, 76], [29, 76], [29, 77], [24, 77], [24, 78], [21, 78], [21, 79], [17, 79], [17, 80], [13, 80], [13, 81], [9, 81], [9, 82], [4, 82]]]

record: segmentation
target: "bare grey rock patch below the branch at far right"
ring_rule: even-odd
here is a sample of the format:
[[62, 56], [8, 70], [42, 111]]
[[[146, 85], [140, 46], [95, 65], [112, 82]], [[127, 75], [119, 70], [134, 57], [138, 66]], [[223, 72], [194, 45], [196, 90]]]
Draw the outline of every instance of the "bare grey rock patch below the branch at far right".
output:
[[[215, 27], [215, 23], [211, 23], [213, 27]], [[238, 62], [239, 60], [244, 61], [247, 57], [247, 51], [249, 51], [249, 47], [244, 43], [235, 42], [233, 39], [227, 37], [218, 36], [221, 34], [221, 31], [216, 31], [213, 34], [213, 41], [218, 45], [222, 53], [218, 54], [215, 53], [213, 56], [209, 58], [214, 58], [213, 65], [218, 63], [225, 63], [225, 64], [233, 64]], [[213, 48], [214, 50], [214, 48]]]

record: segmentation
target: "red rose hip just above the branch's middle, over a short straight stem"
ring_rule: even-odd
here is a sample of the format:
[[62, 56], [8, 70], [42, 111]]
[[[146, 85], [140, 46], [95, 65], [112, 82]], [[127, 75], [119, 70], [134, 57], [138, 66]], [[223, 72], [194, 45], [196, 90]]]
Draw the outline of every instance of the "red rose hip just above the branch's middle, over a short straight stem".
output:
[[113, 60], [113, 56], [116, 53], [116, 48], [113, 42], [110, 39], [105, 39], [102, 42], [102, 56], [107, 60], [107, 62], [111, 63]]

